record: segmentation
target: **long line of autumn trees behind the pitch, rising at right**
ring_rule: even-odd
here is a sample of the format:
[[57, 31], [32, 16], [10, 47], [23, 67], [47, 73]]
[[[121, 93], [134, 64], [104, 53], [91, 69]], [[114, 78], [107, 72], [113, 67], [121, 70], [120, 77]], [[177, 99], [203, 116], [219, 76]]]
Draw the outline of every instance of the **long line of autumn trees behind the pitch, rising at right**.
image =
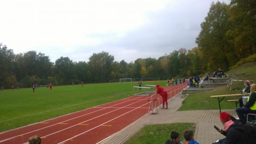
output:
[[218, 68], [227, 71], [256, 52], [255, 1], [212, 2], [195, 42], [198, 46], [190, 50], [180, 48], [158, 59], [138, 58], [130, 63], [115, 61], [108, 52], [94, 53], [88, 62], [60, 57], [52, 63], [44, 53], [14, 54], [0, 43], [0, 85], [104, 83], [120, 78], [182, 78]]

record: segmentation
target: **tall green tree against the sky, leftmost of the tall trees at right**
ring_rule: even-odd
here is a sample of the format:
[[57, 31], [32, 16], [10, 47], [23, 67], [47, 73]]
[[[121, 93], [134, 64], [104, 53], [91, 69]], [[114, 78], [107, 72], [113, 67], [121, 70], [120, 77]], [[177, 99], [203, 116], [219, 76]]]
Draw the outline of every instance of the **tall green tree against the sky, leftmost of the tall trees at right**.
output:
[[218, 67], [227, 70], [230, 66], [227, 54], [231, 47], [226, 37], [230, 27], [227, 23], [229, 17], [227, 4], [212, 2], [205, 21], [201, 23], [201, 32], [196, 38], [196, 43], [210, 71]]

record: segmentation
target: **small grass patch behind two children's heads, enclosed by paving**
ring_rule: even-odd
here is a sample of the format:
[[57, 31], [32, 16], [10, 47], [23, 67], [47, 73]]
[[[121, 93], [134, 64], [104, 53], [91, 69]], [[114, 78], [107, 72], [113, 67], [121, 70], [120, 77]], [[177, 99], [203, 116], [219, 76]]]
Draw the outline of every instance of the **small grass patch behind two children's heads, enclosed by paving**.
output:
[[177, 131], [180, 134], [183, 144], [186, 144], [183, 132], [185, 130], [192, 130], [193, 134], [195, 134], [195, 127], [193, 123], [147, 125], [132, 136], [125, 144], [165, 144], [168, 139], [171, 139], [170, 135], [172, 131]]

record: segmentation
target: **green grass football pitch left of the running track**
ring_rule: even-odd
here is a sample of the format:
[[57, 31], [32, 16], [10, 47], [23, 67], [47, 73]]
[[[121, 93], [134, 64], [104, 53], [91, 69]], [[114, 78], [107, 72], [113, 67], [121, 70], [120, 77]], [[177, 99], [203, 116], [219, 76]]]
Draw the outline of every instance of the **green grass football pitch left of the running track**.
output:
[[[143, 82], [166, 86], [165, 81]], [[0, 132], [132, 96], [137, 83], [85, 84], [0, 91]]]

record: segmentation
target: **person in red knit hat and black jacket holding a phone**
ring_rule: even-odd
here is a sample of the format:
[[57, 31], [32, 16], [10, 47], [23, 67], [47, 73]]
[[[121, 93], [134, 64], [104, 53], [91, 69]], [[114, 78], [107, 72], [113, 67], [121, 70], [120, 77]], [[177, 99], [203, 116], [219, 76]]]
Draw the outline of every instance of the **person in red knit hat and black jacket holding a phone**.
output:
[[232, 121], [227, 112], [221, 112], [220, 120], [224, 126], [224, 130], [220, 129], [218, 132], [225, 135], [226, 138], [212, 144], [247, 144], [244, 127], [239, 121]]

